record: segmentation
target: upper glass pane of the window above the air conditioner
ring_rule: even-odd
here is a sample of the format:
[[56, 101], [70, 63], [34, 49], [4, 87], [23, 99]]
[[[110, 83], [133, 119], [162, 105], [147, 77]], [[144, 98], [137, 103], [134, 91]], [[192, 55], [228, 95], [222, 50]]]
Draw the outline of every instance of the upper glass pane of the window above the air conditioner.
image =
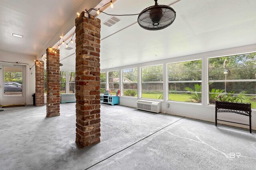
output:
[[163, 81], [163, 65], [142, 67], [142, 82]]

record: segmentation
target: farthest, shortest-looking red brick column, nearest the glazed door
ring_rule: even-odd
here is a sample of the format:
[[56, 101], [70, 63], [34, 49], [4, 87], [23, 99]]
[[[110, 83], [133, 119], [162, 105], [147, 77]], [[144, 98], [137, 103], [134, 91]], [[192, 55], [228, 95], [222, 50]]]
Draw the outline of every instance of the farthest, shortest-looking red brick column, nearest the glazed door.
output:
[[36, 60], [36, 106], [44, 106], [44, 61]]

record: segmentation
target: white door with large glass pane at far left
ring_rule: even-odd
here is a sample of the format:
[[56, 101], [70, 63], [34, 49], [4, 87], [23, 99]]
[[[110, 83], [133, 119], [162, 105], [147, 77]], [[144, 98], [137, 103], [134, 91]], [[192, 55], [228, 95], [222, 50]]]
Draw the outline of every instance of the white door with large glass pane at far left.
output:
[[0, 104], [25, 104], [25, 66], [0, 64]]

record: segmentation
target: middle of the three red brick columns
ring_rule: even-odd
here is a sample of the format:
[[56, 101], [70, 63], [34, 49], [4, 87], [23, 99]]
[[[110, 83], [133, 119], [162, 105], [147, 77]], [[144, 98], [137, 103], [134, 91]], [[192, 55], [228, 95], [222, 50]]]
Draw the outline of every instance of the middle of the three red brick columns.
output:
[[46, 117], [60, 116], [60, 50], [47, 48], [46, 59]]

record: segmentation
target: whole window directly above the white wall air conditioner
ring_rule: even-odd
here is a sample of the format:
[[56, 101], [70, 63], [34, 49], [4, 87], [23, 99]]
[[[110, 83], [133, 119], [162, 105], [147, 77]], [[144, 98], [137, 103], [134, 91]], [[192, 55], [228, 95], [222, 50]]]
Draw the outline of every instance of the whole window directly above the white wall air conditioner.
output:
[[163, 99], [163, 65], [141, 68], [142, 98]]

